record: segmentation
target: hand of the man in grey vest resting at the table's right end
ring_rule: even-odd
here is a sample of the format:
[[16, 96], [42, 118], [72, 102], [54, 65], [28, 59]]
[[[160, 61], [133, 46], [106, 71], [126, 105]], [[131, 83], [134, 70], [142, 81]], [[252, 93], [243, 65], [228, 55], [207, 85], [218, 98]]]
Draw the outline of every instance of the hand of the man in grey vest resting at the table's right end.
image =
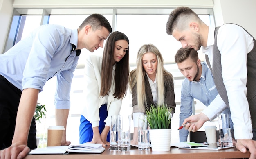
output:
[[256, 159], [256, 141], [252, 139], [238, 139], [236, 140], [236, 148], [243, 153], [249, 149], [251, 153], [249, 159]]

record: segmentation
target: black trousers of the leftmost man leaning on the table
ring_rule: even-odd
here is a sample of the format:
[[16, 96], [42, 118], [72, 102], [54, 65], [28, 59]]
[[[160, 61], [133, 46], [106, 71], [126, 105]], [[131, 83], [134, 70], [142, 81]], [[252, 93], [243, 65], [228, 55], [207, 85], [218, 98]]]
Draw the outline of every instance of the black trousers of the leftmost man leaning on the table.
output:
[[[16, 115], [21, 90], [0, 75], [0, 150], [11, 146], [16, 124]], [[31, 122], [28, 143], [30, 149], [36, 148], [36, 122]]]

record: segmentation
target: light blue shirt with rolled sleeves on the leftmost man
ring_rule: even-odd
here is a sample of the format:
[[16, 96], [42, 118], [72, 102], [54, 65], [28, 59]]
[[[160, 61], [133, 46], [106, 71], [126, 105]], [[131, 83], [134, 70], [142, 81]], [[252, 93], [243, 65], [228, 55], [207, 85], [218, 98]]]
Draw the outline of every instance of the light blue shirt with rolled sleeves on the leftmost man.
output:
[[[45, 82], [57, 76], [56, 109], [70, 108], [70, 88], [81, 50], [77, 29], [43, 25], [10, 50], [0, 55], [0, 74], [18, 89], [43, 90]], [[73, 44], [73, 46], [72, 46]]]

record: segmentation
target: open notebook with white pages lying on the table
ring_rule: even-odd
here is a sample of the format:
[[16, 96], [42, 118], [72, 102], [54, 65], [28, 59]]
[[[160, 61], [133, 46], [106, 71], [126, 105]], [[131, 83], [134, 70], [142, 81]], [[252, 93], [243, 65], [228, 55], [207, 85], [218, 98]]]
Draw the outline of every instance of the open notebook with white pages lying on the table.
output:
[[74, 153], [102, 153], [105, 148], [101, 144], [84, 143], [71, 146], [49, 146], [46, 148], [36, 148], [29, 154], [68, 154]]

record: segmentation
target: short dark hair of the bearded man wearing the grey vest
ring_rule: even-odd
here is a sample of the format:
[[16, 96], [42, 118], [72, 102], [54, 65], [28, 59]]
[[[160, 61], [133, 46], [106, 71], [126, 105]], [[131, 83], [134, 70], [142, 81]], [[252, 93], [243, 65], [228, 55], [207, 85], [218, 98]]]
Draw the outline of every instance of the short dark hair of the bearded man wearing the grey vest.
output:
[[184, 30], [187, 27], [186, 22], [191, 18], [200, 18], [198, 15], [192, 11], [189, 7], [177, 7], [169, 15], [167, 24], [166, 24], [166, 33], [172, 35], [174, 29]]

